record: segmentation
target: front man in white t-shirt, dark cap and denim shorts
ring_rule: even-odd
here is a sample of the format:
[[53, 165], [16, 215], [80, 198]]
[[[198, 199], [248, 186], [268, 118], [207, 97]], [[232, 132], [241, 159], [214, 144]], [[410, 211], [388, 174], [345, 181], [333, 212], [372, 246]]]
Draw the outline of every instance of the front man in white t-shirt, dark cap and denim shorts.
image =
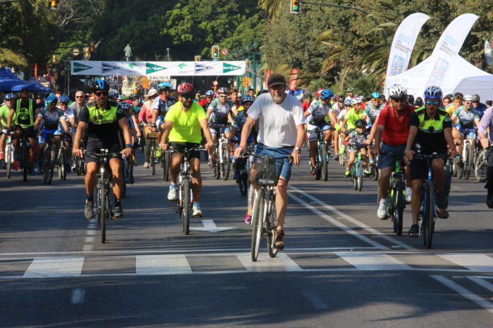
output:
[[[246, 141], [258, 120], [259, 143], [256, 154], [282, 157], [290, 155], [296, 165], [300, 164], [300, 148], [305, 137], [305, 116], [299, 100], [285, 93], [286, 80], [281, 74], [271, 74], [267, 80], [269, 93], [257, 97], [248, 109], [248, 119], [243, 126], [241, 144], [235, 155], [246, 149]], [[280, 163], [279, 163], [280, 165]], [[278, 226], [274, 236], [274, 247], [284, 248], [284, 216], [287, 209], [287, 182], [291, 176], [292, 163], [284, 161], [281, 177], [276, 186], [276, 212]]]

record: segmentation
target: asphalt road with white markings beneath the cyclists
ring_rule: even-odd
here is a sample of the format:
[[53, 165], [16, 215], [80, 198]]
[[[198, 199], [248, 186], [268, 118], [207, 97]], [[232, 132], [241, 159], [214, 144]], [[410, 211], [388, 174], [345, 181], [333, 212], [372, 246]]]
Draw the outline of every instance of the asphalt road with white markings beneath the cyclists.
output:
[[375, 181], [354, 191], [334, 162], [315, 181], [305, 155], [285, 249], [271, 259], [262, 243], [252, 263], [246, 197], [202, 170], [191, 227], [205, 229], [184, 236], [169, 183], [140, 165], [105, 244], [83, 216], [82, 177], [46, 186], [0, 171], [1, 327], [492, 327], [492, 212], [475, 180], [454, 179], [426, 250], [377, 218]]

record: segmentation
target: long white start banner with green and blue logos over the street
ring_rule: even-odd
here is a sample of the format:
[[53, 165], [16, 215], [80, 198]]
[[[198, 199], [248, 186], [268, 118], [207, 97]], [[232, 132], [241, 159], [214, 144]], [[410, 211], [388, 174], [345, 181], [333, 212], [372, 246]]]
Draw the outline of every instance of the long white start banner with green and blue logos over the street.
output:
[[[72, 75], [221, 76], [243, 75], [245, 61], [71, 61]], [[165, 80], [165, 79], [160, 79]]]

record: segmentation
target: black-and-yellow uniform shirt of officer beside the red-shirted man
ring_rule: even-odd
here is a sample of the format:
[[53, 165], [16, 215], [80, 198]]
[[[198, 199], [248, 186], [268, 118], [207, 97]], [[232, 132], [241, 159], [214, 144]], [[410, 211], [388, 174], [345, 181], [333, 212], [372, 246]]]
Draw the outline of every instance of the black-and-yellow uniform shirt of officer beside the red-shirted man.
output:
[[[439, 111], [442, 114], [447, 114], [447, 112], [445, 112], [444, 110], [439, 109]], [[438, 114], [439, 113], [435, 114], [435, 121], [431, 125], [438, 127], [440, 126], [440, 120], [442, 120], [443, 129], [452, 128], [452, 120], [450, 119], [449, 115], [447, 114], [446, 116], [441, 118]], [[425, 121], [429, 121], [426, 112], [424, 113], [423, 122], [420, 121], [416, 112], [412, 113], [411, 117], [409, 118], [409, 126], [416, 126], [418, 128], [418, 133], [416, 134], [416, 138], [414, 139], [413, 143], [413, 150], [417, 150], [418, 148], [416, 147], [416, 145], [419, 144], [421, 146], [420, 149], [423, 153], [431, 153], [435, 151], [439, 153], [447, 152], [447, 140], [445, 139], [445, 133], [443, 132], [443, 129], [442, 131], [436, 133], [424, 132], [420, 129], [420, 124], [422, 126], [428, 126], [429, 124], [423, 124], [426, 123]]]

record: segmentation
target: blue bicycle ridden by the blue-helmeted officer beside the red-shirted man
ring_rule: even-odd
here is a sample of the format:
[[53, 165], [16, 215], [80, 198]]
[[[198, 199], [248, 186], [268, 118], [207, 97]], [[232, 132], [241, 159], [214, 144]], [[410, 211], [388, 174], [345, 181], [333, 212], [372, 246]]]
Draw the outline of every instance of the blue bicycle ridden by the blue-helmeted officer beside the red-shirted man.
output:
[[433, 168], [431, 162], [435, 158], [441, 158], [446, 161], [447, 156], [438, 155], [436, 152], [431, 155], [416, 153], [414, 158], [424, 159], [426, 161], [427, 176], [423, 181], [423, 201], [419, 214], [419, 236], [423, 237], [423, 246], [430, 249], [433, 241], [433, 232], [435, 230], [435, 220], [438, 217], [436, 210], [436, 187], [435, 182], [433, 181]]

